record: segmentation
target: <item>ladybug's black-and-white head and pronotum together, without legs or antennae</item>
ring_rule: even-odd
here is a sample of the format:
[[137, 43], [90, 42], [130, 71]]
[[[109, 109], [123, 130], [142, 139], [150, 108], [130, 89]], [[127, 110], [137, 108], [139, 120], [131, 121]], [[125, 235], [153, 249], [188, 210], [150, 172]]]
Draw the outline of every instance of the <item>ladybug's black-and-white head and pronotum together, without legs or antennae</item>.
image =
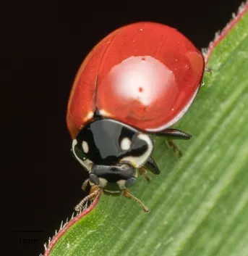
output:
[[90, 172], [91, 183], [104, 191], [119, 192], [132, 186], [140, 168], [153, 152], [145, 133], [111, 119], [85, 125], [72, 141], [72, 152]]

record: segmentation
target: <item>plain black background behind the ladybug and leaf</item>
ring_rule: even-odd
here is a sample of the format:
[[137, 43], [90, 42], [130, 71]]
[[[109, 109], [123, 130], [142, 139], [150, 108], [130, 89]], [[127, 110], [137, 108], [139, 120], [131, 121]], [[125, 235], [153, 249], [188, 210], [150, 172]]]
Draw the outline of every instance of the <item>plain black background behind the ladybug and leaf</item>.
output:
[[[90, 49], [112, 30], [141, 20], [171, 25], [201, 49], [239, 4], [19, 1], [3, 8], [0, 135], [7, 181], [2, 179], [1, 220], [10, 245], [4, 255], [43, 253], [48, 236], [84, 196], [87, 173], [72, 158], [65, 117], [74, 75]], [[37, 240], [25, 244], [25, 238]]]

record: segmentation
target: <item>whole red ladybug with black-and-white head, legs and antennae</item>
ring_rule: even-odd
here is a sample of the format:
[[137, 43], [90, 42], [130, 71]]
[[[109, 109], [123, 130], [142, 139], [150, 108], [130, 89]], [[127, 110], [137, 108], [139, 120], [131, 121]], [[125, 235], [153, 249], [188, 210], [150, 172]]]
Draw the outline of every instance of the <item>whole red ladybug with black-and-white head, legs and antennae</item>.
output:
[[[78, 71], [67, 107], [72, 154], [89, 172], [90, 194], [132, 196], [147, 170], [160, 170], [151, 135], [190, 139], [169, 128], [189, 109], [202, 83], [202, 53], [178, 30], [155, 22], [125, 25], [103, 38]], [[147, 178], [145, 176], [145, 178]]]

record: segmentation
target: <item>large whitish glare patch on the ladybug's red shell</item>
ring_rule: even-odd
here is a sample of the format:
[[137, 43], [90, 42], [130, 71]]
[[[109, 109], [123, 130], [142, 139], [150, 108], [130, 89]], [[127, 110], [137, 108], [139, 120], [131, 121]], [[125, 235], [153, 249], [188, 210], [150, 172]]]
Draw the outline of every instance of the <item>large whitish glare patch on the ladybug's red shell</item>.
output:
[[[114, 94], [124, 100], [140, 102], [143, 106], [153, 104], [158, 95], [163, 94], [175, 80], [174, 73], [151, 56], [132, 56], [124, 59], [111, 69], [109, 78], [111, 83], [118, 85], [113, 87]], [[151, 83], [153, 86], [150, 86]]]

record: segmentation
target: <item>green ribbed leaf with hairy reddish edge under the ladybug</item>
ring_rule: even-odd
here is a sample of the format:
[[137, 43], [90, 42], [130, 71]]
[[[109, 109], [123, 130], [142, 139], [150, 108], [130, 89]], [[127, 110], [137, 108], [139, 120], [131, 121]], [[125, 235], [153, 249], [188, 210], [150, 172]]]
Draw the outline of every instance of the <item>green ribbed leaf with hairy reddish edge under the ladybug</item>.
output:
[[210, 47], [212, 75], [205, 74], [176, 124], [192, 133], [189, 141], [176, 141], [183, 157], [155, 139], [161, 175], [150, 174], [150, 183], [141, 177], [131, 189], [150, 213], [132, 200], [103, 195], [67, 224], [46, 255], [247, 256], [248, 13], [240, 16]]

